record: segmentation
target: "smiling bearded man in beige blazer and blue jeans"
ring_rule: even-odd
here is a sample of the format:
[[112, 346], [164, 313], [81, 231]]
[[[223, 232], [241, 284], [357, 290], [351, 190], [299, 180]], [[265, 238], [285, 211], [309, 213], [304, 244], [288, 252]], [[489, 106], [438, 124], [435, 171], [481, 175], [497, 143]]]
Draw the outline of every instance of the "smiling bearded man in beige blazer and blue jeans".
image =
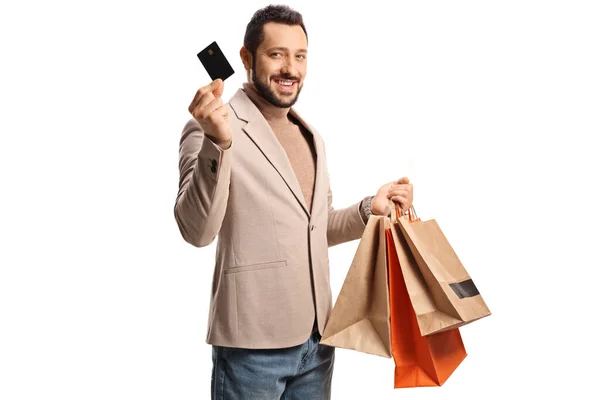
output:
[[369, 215], [412, 204], [407, 178], [334, 210], [323, 139], [291, 108], [307, 71], [302, 16], [258, 10], [240, 56], [248, 83], [224, 104], [200, 88], [180, 143], [175, 218], [183, 238], [218, 235], [207, 343], [212, 398], [328, 399], [334, 348], [328, 247], [359, 239]]

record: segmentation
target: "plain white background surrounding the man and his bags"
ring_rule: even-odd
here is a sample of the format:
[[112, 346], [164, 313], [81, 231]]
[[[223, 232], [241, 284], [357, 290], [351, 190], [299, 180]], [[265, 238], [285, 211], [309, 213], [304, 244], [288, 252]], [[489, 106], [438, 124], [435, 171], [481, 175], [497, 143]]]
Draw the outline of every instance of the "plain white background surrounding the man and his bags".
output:
[[[178, 145], [213, 40], [245, 81], [266, 2], [0, 7], [0, 398], [207, 399], [215, 243], [181, 238]], [[168, 5], [167, 5], [168, 4]], [[339, 349], [334, 399], [597, 398], [600, 11], [593, 1], [290, 2], [297, 110], [334, 206], [403, 175], [493, 315], [441, 388]], [[334, 300], [358, 241], [330, 249]]]

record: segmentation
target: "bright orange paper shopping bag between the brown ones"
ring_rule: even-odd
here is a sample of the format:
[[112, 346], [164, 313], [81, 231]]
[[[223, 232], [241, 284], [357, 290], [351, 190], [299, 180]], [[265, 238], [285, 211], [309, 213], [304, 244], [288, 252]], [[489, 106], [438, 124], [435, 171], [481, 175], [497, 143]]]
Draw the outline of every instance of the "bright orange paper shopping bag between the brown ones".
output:
[[402, 262], [415, 261], [402, 236], [394, 242], [391, 229], [386, 229], [394, 388], [441, 386], [467, 353], [458, 328], [421, 336], [398, 253]]

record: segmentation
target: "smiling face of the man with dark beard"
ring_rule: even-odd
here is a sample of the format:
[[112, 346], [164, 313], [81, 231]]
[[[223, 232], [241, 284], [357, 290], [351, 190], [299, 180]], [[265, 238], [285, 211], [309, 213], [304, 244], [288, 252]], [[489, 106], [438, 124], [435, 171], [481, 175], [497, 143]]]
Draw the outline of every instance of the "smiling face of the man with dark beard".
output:
[[276, 107], [296, 103], [306, 76], [307, 40], [302, 27], [268, 22], [252, 59], [252, 82]]

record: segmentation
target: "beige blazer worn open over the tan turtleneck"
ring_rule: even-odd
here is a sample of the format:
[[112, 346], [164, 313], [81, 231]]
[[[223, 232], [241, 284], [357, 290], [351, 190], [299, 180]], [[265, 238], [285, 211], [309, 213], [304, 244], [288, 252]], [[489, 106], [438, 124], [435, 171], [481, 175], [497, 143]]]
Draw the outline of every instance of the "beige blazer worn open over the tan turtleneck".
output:
[[179, 148], [179, 230], [197, 247], [218, 237], [206, 341], [295, 346], [310, 337], [315, 313], [323, 333], [332, 309], [328, 247], [361, 237], [360, 202], [333, 209], [323, 140], [292, 109], [311, 132], [317, 154], [309, 210], [287, 154], [258, 108], [241, 89], [228, 106], [230, 148], [204, 140], [194, 119]]

